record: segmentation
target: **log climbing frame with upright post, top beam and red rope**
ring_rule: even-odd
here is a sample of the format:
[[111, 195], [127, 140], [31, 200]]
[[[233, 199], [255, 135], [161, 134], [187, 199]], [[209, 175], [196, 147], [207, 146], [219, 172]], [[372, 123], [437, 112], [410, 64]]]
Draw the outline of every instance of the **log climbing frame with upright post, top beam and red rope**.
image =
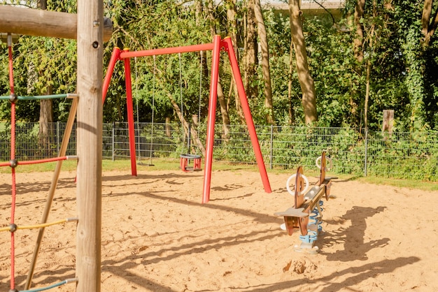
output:
[[[78, 181], [77, 226], [76, 226], [76, 291], [99, 292], [101, 286], [101, 155], [102, 155], [102, 104], [100, 94], [103, 79], [103, 45], [111, 37], [112, 25], [104, 20], [104, 5], [101, 0], [78, 0], [77, 14], [58, 13], [32, 8], [17, 8], [0, 5], [0, 31], [7, 34], [74, 38], [77, 40], [77, 155]], [[107, 19], [108, 20], [108, 19]], [[111, 22], [109, 22], [111, 24]], [[109, 32], [109, 34], [105, 34]], [[12, 61], [9, 63], [12, 68]], [[10, 74], [12, 70], [10, 70]], [[10, 78], [10, 80], [13, 80]], [[11, 101], [20, 100], [13, 93], [10, 82]], [[25, 99], [25, 98], [22, 98]], [[15, 113], [15, 103], [11, 103]], [[11, 122], [12, 123], [12, 122]], [[15, 122], [11, 126], [11, 140], [15, 139]], [[15, 157], [11, 149], [11, 157]], [[64, 157], [59, 158], [62, 161]], [[11, 159], [11, 172], [15, 184], [15, 168], [20, 162]], [[53, 186], [54, 184], [52, 184]], [[52, 187], [51, 187], [52, 188]], [[13, 188], [14, 189], [14, 188]], [[12, 191], [15, 205], [15, 191]], [[11, 211], [13, 212], [13, 211]], [[11, 217], [13, 222], [13, 217]], [[11, 246], [15, 232], [11, 224]], [[43, 228], [43, 226], [41, 227]], [[11, 249], [11, 258], [14, 257]], [[14, 270], [11, 265], [10, 291], [17, 291]], [[64, 281], [66, 283], [69, 281]], [[52, 288], [50, 286], [48, 288]], [[44, 289], [46, 290], [46, 289]], [[41, 291], [32, 289], [31, 291]]]

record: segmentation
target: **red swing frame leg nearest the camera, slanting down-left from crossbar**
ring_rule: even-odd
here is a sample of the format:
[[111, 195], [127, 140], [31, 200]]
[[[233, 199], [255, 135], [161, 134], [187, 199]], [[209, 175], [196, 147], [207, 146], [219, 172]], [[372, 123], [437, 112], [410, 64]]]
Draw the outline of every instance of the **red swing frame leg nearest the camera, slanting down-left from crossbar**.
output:
[[216, 102], [218, 100], [219, 59], [220, 59], [220, 36], [213, 38], [213, 53], [211, 56], [211, 83], [209, 101], [209, 119], [207, 120], [207, 140], [204, 167], [204, 187], [202, 203], [209, 203], [211, 184], [211, 165], [213, 163], [214, 124], [216, 118]]

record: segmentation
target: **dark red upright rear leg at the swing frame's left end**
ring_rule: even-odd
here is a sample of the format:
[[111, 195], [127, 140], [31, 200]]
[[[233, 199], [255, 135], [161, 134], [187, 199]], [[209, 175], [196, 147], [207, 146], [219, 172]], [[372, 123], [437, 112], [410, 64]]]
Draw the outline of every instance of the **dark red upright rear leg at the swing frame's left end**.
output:
[[[129, 49], [124, 49], [127, 52]], [[126, 105], [128, 115], [129, 132], [129, 156], [131, 156], [131, 173], [137, 176], [136, 154], [135, 154], [135, 133], [134, 133], [134, 107], [132, 106], [132, 83], [131, 83], [131, 62], [129, 58], [125, 61], [125, 85], [126, 85]]]

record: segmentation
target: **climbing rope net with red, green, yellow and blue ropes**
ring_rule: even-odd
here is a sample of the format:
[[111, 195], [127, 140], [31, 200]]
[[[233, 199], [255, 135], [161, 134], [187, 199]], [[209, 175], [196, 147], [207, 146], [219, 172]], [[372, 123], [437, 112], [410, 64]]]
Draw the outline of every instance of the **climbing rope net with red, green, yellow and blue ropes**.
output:
[[[8, 71], [9, 71], [10, 96], [0, 96], [0, 100], [10, 101], [10, 161], [0, 163], [0, 166], [10, 166], [10, 173], [11, 173], [10, 222], [9, 222], [9, 226], [0, 228], [0, 231], [9, 231], [10, 232], [10, 292], [15, 292], [15, 291], [20, 292], [15, 288], [15, 286], [16, 286], [15, 285], [15, 231], [17, 231], [19, 229], [39, 229], [39, 231], [41, 232], [41, 231], [43, 231], [43, 228], [45, 228], [47, 226], [52, 226], [55, 224], [64, 224], [66, 222], [71, 222], [71, 221], [78, 221], [78, 219], [77, 218], [68, 218], [68, 219], [53, 221], [50, 223], [43, 221], [43, 223], [41, 223], [41, 224], [35, 224], [35, 225], [29, 225], [29, 226], [18, 226], [15, 223], [15, 207], [16, 207], [16, 197], [17, 197], [17, 184], [16, 184], [16, 175], [15, 175], [16, 170], [15, 170], [15, 168], [18, 165], [47, 163], [47, 162], [52, 162], [52, 161], [59, 162], [59, 161], [64, 161], [66, 159], [77, 159], [77, 156], [59, 156], [59, 157], [55, 157], [55, 158], [40, 159], [40, 160], [35, 160], [35, 161], [17, 161], [17, 158], [15, 157], [15, 147], [16, 147], [16, 145], [15, 145], [16, 144], [15, 143], [15, 128], [16, 128], [15, 103], [19, 100], [27, 101], [27, 100], [36, 100], [36, 99], [40, 100], [40, 99], [48, 99], [48, 98], [66, 98], [66, 97], [69, 97], [69, 94], [55, 94], [52, 96], [17, 96], [15, 94], [14, 75], [13, 75], [12, 37], [10, 36], [10, 34], [8, 34]], [[70, 96], [76, 97], [76, 94], [70, 94]], [[76, 112], [77, 101], [73, 104], [75, 105], [74, 112]], [[70, 117], [69, 117], [69, 119], [70, 119]], [[74, 117], [73, 117], [73, 119], [74, 119]], [[63, 143], [64, 143], [66, 136], [64, 136]], [[70, 133], [68, 133], [68, 136], [70, 136]], [[68, 143], [68, 140], [69, 139], [67, 138], [66, 139], [67, 143]], [[59, 175], [59, 171], [60, 171], [60, 169], [58, 170], [58, 168], [57, 168], [55, 173], [57, 173], [57, 175]], [[57, 175], [55, 175], [55, 176], [57, 177]], [[56, 178], [56, 182], [57, 182], [57, 178]], [[56, 183], [54, 183], [52, 181], [52, 186], [55, 184]], [[50, 189], [52, 189], [52, 187]], [[51, 200], [51, 198], [50, 198], [50, 200]], [[39, 247], [38, 242], [37, 242], [37, 245]], [[31, 271], [33, 272], [33, 268], [31, 268]], [[31, 272], [29, 272], [29, 274], [30, 273]], [[28, 279], [29, 279], [29, 277], [28, 277]], [[30, 277], [30, 279], [31, 279], [31, 277]], [[43, 288], [36, 288], [36, 289], [29, 289], [29, 287], [27, 287], [28, 290], [23, 290], [21, 292], [45, 291], [45, 290], [60, 286], [62, 284], [67, 284], [70, 282], [77, 282], [77, 280], [78, 279], [76, 279], [76, 278], [66, 279], [62, 282], [52, 284], [50, 286], [46, 286]], [[26, 285], [30, 286], [29, 281]]]

